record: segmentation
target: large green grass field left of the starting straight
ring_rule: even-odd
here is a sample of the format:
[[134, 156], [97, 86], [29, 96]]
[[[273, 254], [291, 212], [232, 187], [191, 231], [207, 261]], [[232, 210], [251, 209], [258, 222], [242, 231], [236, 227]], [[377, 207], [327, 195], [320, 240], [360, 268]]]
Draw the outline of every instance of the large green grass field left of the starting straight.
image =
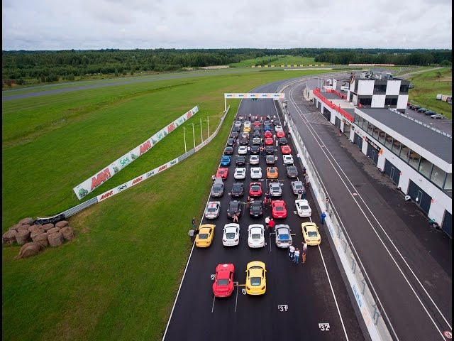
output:
[[[323, 70], [319, 72], [324, 72]], [[3, 102], [2, 231], [77, 205], [72, 188], [199, 104], [214, 131], [224, 92], [317, 70], [114, 85]], [[2, 248], [3, 340], [160, 340], [239, 101], [214, 141], [150, 180], [70, 218], [76, 239], [31, 259]], [[87, 198], [184, 153], [179, 127]]]

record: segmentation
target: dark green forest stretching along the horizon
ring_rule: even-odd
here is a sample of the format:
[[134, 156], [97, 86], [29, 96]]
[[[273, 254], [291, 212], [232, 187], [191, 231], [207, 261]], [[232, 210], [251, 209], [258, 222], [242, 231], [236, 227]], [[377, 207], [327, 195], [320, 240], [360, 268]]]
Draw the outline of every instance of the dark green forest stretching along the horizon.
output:
[[[380, 63], [395, 65], [451, 65], [452, 50], [402, 49], [153, 49], [2, 51], [3, 87], [15, 83], [74, 80], [84, 75], [134, 75], [136, 72], [175, 72], [192, 67], [230, 65], [259, 58], [267, 64], [282, 55], [315, 58], [316, 63], [345, 65]], [[262, 58], [262, 60], [260, 60]]]

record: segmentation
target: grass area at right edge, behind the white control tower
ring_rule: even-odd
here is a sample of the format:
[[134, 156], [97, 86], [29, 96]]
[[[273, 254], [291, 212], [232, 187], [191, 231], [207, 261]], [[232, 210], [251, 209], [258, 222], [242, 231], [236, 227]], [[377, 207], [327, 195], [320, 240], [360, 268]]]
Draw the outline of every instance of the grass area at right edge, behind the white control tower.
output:
[[414, 89], [409, 90], [409, 102], [439, 112], [448, 119], [453, 117], [453, 106], [436, 99], [437, 94], [452, 94], [452, 68], [422, 72], [411, 76]]

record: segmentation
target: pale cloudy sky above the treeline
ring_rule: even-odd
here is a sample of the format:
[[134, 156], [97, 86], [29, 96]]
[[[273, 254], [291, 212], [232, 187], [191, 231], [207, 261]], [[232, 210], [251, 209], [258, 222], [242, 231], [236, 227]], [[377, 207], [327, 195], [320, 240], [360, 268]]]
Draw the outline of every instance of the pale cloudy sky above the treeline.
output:
[[450, 0], [2, 0], [2, 50], [452, 48]]

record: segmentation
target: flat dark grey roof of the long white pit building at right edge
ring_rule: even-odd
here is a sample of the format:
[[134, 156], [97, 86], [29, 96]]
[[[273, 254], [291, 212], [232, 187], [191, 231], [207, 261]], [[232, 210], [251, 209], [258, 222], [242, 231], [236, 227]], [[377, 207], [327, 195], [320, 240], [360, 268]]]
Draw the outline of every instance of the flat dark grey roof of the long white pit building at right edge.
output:
[[389, 109], [358, 108], [358, 110], [406, 137], [406, 139], [413, 141], [443, 161], [449, 164], [453, 163], [453, 140], [448, 136]]

